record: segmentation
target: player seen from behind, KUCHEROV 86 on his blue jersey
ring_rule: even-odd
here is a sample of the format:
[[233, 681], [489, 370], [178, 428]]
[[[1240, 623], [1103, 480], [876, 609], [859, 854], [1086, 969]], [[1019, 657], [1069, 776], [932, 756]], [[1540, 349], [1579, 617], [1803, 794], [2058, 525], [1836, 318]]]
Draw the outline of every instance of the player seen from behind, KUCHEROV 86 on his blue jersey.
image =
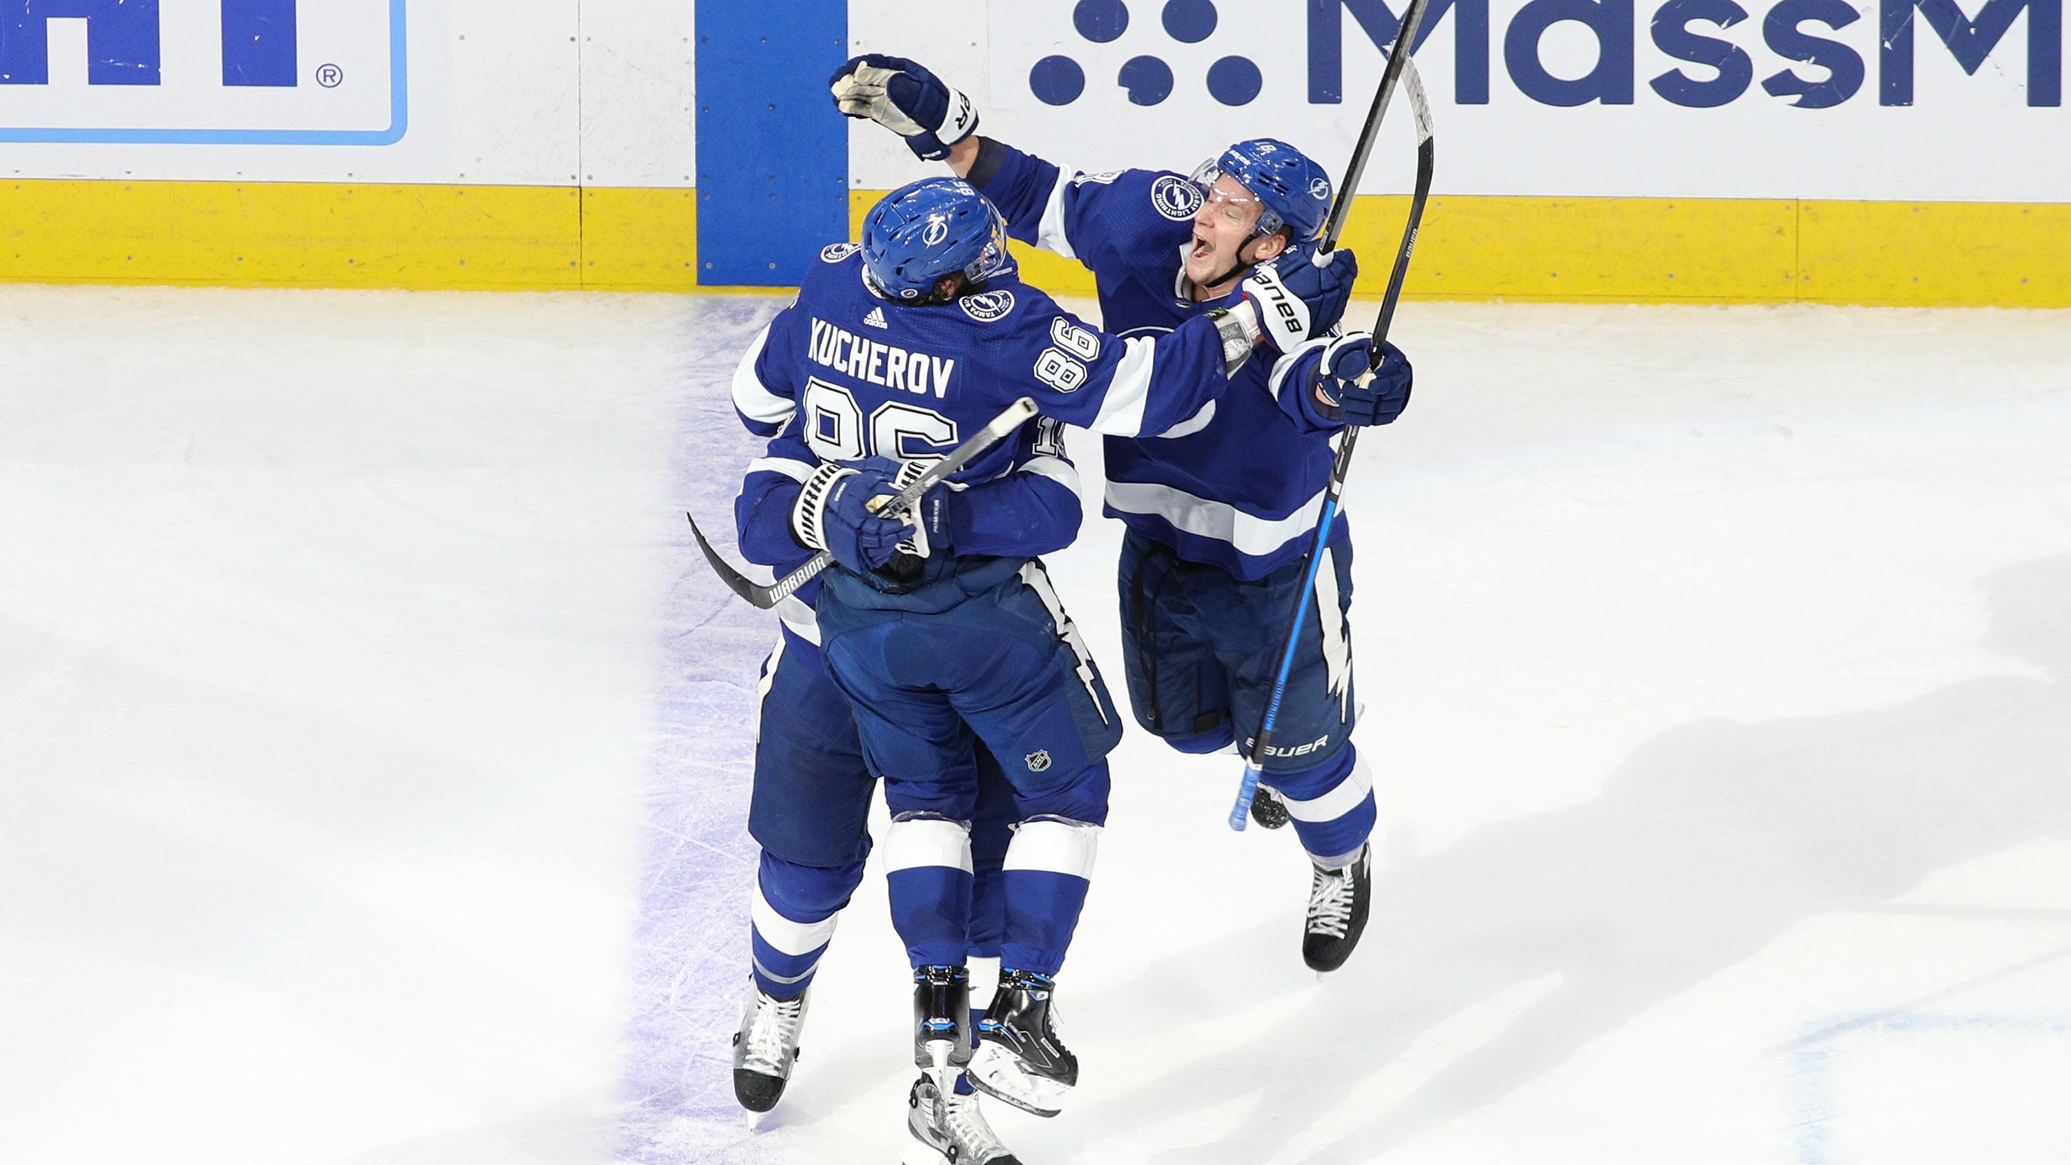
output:
[[[770, 410], [785, 428], [750, 468], [741, 552], [777, 571], [822, 548], [839, 563], [816, 600], [820, 648], [893, 811], [882, 855], [915, 970], [915, 1062], [930, 1070], [911, 1095], [913, 1134], [959, 1153], [963, 1080], [1042, 1115], [1077, 1080], [1048, 1002], [1106, 822], [1104, 757], [1120, 722], [1033, 559], [1062, 544], [1044, 534], [1060, 511], [1038, 484], [1062, 464], [1058, 422], [1170, 428], [1265, 341], [1261, 302], [1334, 319], [1350, 288], [1350, 265], [1305, 269], [1296, 290], [1307, 300], [1261, 271], [1226, 312], [1118, 339], [1015, 279], [1004, 232], [965, 182], [895, 190], [872, 209], [862, 248], [820, 252], [797, 302], [743, 360], [754, 385], [735, 395], [797, 401]], [[911, 513], [872, 509], [1021, 395], [1046, 416]], [[1002, 476], [1025, 490], [1021, 511], [965, 501]], [[1075, 503], [1067, 517], [1075, 532]], [[980, 743], [1013, 784], [1015, 832], [1000, 875], [1000, 981], [973, 1053], [965, 954]]]

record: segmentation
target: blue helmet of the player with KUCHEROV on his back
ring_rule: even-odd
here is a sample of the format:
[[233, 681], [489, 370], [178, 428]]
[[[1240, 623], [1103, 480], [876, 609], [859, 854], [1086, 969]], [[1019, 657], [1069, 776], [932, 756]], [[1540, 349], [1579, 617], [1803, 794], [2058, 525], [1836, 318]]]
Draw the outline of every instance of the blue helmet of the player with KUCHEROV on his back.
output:
[[959, 271], [984, 283], [1013, 269], [1007, 219], [961, 178], [899, 186], [864, 217], [864, 273], [886, 298], [928, 298]]

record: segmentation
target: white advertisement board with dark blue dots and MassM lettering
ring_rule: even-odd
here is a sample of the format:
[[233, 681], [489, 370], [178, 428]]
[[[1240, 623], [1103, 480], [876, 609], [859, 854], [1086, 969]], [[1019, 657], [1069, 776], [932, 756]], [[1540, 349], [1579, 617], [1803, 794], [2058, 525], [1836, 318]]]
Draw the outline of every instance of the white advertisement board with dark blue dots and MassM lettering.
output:
[[[1454, 195], [2071, 203], [2063, 0], [1433, 0]], [[1338, 170], [1404, 0], [992, 0], [992, 103], [1085, 170], [1282, 137]], [[1400, 192], [1392, 118], [1363, 192]]]

